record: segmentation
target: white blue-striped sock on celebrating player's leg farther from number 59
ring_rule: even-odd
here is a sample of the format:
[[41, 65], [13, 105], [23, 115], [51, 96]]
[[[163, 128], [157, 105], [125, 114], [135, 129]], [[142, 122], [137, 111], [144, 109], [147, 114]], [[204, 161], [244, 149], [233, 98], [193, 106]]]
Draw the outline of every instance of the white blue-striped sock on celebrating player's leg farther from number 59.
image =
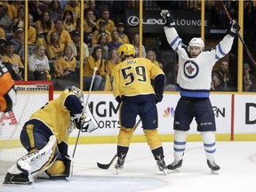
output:
[[210, 161], [215, 161], [215, 133], [214, 132], [201, 132], [202, 140], [204, 141], [204, 152], [206, 158]]

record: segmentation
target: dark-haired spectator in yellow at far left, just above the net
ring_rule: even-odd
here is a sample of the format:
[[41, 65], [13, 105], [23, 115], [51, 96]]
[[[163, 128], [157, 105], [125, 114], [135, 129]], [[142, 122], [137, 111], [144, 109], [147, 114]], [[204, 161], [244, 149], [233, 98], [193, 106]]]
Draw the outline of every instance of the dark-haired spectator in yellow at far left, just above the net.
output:
[[11, 63], [12, 69], [17, 75], [13, 80], [22, 80], [24, 77], [24, 65], [20, 60], [20, 56], [14, 53], [14, 44], [9, 41], [5, 45], [5, 54], [3, 56], [3, 62]]

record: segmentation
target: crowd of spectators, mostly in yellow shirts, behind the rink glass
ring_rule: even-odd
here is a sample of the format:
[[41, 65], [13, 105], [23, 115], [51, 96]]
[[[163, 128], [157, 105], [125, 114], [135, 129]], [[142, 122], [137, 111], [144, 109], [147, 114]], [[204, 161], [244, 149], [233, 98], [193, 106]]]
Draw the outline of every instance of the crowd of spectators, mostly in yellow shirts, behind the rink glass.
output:
[[[0, 1], [0, 54], [4, 63], [12, 65], [14, 80], [23, 80], [24, 73], [24, 31], [28, 31], [28, 80], [51, 80], [54, 90], [63, 90], [66, 86], [80, 86], [83, 77], [84, 91], [88, 91], [93, 68], [97, 75], [93, 91], [111, 91], [110, 76], [112, 69], [120, 62], [117, 49], [121, 44], [133, 44], [136, 56], [139, 57], [140, 36], [138, 33], [127, 34], [125, 28], [125, 9], [138, 9], [139, 0], [132, 1], [84, 1], [84, 20], [81, 22], [81, 2], [70, 1], [32, 1], [28, 0], [28, 28], [25, 28], [25, 2]], [[206, 1], [206, 9], [212, 11], [215, 23], [223, 9], [220, 2]], [[254, 12], [254, 4], [245, 4], [246, 12]], [[166, 9], [200, 9], [200, 1], [143, 1], [146, 10]], [[228, 9], [237, 10], [237, 3], [228, 3]], [[214, 10], [213, 10], [214, 9]], [[255, 21], [253, 15], [247, 14], [248, 20]], [[233, 12], [231, 12], [233, 13]], [[233, 16], [233, 15], [232, 15]], [[81, 48], [81, 23], [84, 28], [83, 47]], [[245, 28], [252, 28], [245, 25]], [[154, 50], [146, 50], [142, 45], [142, 57], [148, 58], [159, 68], [164, 64], [157, 61]], [[84, 58], [80, 58], [80, 51]], [[83, 60], [83, 62], [80, 62]], [[84, 70], [80, 71], [80, 63]], [[223, 61], [228, 66], [228, 62]], [[245, 64], [244, 64], [245, 65]], [[248, 65], [248, 64], [247, 64]], [[250, 69], [244, 75], [244, 92], [255, 91], [245, 82]], [[228, 68], [224, 64], [212, 73], [212, 91], [235, 91]], [[249, 66], [250, 67], [250, 66]], [[171, 67], [170, 67], [171, 68]], [[178, 64], [166, 68], [166, 91], [174, 91]], [[252, 78], [252, 77], [251, 77]], [[217, 79], [217, 80], [216, 80]], [[249, 78], [250, 79], [250, 78]], [[219, 84], [217, 86], [217, 84]], [[215, 84], [215, 86], [213, 86]], [[250, 87], [249, 87], [250, 86]]]

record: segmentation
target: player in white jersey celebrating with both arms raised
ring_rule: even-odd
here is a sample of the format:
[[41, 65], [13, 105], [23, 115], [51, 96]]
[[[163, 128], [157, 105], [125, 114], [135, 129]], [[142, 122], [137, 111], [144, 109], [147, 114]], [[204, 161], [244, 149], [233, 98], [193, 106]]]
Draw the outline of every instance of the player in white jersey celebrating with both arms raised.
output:
[[182, 165], [186, 148], [188, 130], [193, 118], [196, 118], [197, 131], [201, 133], [204, 141], [204, 151], [207, 164], [212, 172], [218, 172], [220, 166], [215, 163], [215, 119], [212, 104], [209, 100], [212, 82], [212, 67], [217, 60], [224, 57], [230, 50], [240, 29], [236, 20], [230, 22], [227, 35], [217, 46], [204, 51], [204, 41], [194, 37], [188, 47], [182, 44], [178, 35], [172, 12], [163, 10], [164, 33], [172, 49], [179, 55], [179, 72], [177, 88], [180, 91], [180, 100], [174, 116], [174, 161], [167, 167], [177, 170]]

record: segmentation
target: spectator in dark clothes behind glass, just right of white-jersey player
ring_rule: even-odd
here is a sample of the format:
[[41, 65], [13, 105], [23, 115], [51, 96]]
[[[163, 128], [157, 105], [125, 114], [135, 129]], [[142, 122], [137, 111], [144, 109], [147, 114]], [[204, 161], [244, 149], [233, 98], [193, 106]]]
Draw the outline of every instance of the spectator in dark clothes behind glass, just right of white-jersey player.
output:
[[231, 75], [228, 73], [228, 61], [221, 60], [220, 68], [216, 71], [220, 76], [220, 84], [224, 87], [224, 92], [234, 91]]

